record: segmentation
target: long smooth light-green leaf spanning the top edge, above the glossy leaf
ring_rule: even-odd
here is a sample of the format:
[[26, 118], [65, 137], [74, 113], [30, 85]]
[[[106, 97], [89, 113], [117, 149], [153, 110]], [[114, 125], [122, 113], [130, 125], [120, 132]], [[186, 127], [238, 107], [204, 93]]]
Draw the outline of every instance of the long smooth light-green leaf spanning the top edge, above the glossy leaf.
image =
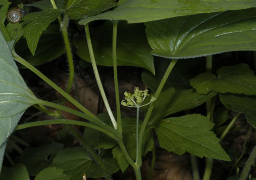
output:
[[120, 19], [127, 20], [128, 23], [138, 23], [251, 7], [256, 7], [256, 1], [250, 0], [245, 3], [244, 0], [126, 0], [113, 11], [84, 18], [79, 21], [79, 24], [97, 19]]

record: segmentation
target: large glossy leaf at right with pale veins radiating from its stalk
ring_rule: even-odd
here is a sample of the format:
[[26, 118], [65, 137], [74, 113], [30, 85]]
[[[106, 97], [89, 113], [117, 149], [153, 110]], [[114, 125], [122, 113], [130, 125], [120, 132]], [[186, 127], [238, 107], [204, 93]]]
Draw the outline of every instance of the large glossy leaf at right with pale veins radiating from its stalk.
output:
[[228, 51], [255, 51], [255, 14], [256, 8], [251, 8], [147, 22], [148, 41], [154, 49], [151, 53], [189, 58]]

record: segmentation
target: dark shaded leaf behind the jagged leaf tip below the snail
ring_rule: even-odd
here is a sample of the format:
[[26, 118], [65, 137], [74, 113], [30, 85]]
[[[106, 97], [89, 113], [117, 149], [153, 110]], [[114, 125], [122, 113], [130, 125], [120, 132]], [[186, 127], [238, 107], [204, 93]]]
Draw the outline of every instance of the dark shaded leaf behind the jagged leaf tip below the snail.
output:
[[[50, 62], [60, 55], [64, 54], [66, 49], [62, 43], [62, 35], [59, 31], [59, 25], [50, 24], [42, 33], [39, 39], [37, 50], [34, 55], [30, 53], [25, 40], [20, 39], [15, 46], [16, 53], [23, 59], [26, 59], [33, 66], [39, 66]], [[19, 69], [26, 67], [19, 64]]]

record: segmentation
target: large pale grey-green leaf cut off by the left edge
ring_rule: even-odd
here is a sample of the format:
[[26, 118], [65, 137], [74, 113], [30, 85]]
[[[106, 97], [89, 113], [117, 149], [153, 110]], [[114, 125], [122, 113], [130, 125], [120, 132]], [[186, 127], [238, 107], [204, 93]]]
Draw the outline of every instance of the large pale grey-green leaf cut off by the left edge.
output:
[[21, 77], [10, 49], [0, 33], [0, 164], [7, 138], [36, 99]]

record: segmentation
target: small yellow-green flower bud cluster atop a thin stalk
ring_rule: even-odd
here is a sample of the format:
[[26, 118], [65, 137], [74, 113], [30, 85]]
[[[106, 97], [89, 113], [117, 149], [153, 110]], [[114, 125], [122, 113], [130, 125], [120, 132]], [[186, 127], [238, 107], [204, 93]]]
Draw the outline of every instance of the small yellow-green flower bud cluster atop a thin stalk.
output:
[[126, 107], [131, 107], [131, 108], [146, 106], [156, 100], [156, 98], [151, 97], [151, 100], [149, 103], [140, 106], [148, 95], [149, 95], [148, 90], [139, 90], [138, 87], [134, 89], [133, 94], [125, 91], [124, 92], [125, 97], [124, 97], [124, 100], [121, 101], [121, 105]]

